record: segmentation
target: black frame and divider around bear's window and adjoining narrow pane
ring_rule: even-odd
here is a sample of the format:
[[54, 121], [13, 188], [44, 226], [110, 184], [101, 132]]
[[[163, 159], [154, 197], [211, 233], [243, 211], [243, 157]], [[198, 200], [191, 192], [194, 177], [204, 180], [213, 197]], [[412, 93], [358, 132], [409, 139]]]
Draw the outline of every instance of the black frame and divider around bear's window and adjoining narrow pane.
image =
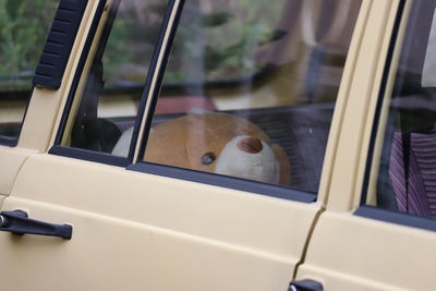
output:
[[[177, 28], [179, 26], [179, 21], [182, 15], [184, 2], [184, 0], [168, 1], [167, 11], [164, 16], [162, 24], [160, 25], [159, 37], [156, 43], [155, 51], [153, 53], [140, 107], [137, 110], [129, 156], [124, 158], [106, 153], [61, 145], [63, 131], [70, 118], [70, 109], [74, 101], [74, 95], [78, 82], [83, 77], [85, 63], [89, 59], [89, 52], [95, 41], [98, 25], [101, 21], [102, 9], [105, 7], [106, 0], [99, 1], [99, 11], [93, 16], [94, 19], [92, 27], [86, 36], [85, 47], [81, 52], [77, 70], [74, 73], [73, 84], [69, 90], [66, 104], [62, 112], [60, 126], [56, 134], [55, 144], [48, 153], [52, 155], [94, 161], [109, 166], [123, 167], [130, 171], [175, 178], [184, 181], [199, 182], [208, 185], [223, 186], [288, 201], [296, 201], [302, 203], [316, 202], [319, 190], [317, 192], [307, 192], [280, 185], [262, 183], [257, 181], [219, 175], [215, 173], [199, 172], [165, 165], [156, 165], [140, 160], [140, 157], [142, 157], [142, 155], [145, 153], [145, 141], [147, 141], [148, 132], [152, 126], [157, 99], [164, 81], [166, 66], [170, 57], [172, 43], [174, 40]], [[323, 161], [323, 163], [325, 161]]]

